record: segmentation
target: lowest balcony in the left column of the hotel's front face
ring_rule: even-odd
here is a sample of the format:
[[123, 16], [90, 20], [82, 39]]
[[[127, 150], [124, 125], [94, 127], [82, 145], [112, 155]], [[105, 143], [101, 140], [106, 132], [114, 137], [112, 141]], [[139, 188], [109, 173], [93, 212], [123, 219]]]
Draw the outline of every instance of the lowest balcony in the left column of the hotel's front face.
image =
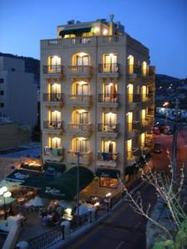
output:
[[44, 147], [44, 156], [45, 159], [49, 159], [49, 160], [62, 160], [62, 158], [64, 157], [64, 148], [62, 147], [58, 147], [58, 148], [51, 148], [48, 146]]

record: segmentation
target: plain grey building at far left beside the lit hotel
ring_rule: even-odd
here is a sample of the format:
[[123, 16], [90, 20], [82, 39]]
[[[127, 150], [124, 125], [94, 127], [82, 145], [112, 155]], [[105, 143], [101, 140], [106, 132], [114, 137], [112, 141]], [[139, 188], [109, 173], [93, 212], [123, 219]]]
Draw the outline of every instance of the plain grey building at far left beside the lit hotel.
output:
[[29, 127], [37, 122], [38, 77], [31, 71], [24, 57], [0, 53], [0, 116]]

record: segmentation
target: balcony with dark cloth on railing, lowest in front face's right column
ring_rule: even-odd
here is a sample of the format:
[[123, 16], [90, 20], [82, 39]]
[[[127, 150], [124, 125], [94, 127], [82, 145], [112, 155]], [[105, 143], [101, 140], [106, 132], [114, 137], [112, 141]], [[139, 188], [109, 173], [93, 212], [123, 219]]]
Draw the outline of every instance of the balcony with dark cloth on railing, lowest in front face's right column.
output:
[[105, 168], [116, 168], [119, 159], [118, 153], [98, 152], [97, 166]]

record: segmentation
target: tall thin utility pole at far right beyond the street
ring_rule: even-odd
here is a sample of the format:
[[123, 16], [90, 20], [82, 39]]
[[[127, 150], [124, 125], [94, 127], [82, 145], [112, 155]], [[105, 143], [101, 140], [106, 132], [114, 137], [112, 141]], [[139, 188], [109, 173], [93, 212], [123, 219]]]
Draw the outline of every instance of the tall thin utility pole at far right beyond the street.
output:
[[179, 119], [179, 101], [175, 100], [175, 121], [172, 141], [172, 169], [173, 169], [173, 182], [176, 184], [177, 181], [177, 137], [178, 137], [178, 119]]

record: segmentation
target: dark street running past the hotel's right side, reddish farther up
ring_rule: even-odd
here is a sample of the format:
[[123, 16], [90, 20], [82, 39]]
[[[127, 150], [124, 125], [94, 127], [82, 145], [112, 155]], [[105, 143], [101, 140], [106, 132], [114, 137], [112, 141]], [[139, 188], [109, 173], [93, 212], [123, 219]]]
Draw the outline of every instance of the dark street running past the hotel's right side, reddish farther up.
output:
[[[171, 135], [163, 134], [154, 136], [154, 142], [162, 144], [162, 153], [153, 153], [150, 161], [156, 170], [168, 171], [172, 138]], [[180, 129], [178, 133], [177, 161], [179, 165], [187, 164], [187, 129], [185, 128]], [[144, 207], [148, 203], [154, 204], [156, 195], [151, 186], [145, 185], [140, 192]], [[138, 215], [128, 202], [123, 202], [105, 221], [63, 248], [145, 249], [145, 226], [146, 219]]]

